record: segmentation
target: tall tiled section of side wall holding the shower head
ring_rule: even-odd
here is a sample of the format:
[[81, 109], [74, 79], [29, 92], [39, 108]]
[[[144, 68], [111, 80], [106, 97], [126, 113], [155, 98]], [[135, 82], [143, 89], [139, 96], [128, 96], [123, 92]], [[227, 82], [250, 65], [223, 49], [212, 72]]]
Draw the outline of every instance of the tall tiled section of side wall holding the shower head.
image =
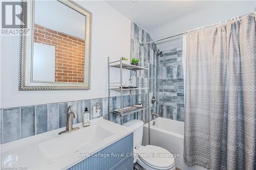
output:
[[[151, 104], [152, 96], [155, 95], [158, 99], [159, 93], [159, 78], [158, 78], [158, 70], [159, 70], [159, 58], [157, 57], [158, 48], [155, 43], [150, 43], [147, 45], [142, 45], [142, 43], [153, 41], [151, 36], [137, 26], [135, 23], [131, 25], [131, 58], [139, 58], [139, 66], [141, 67], [148, 67], [150, 71], [147, 72], [146, 70], [137, 71], [137, 75], [135, 71], [131, 71], [131, 78], [137, 79], [139, 83], [142, 85], [147, 86], [148, 82], [148, 74], [149, 75], [149, 88], [150, 88], [150, 99], [147, 103], [147, 90], [138, 90], [138, 102], [142, 104], [147, 104], [150, 106], [150, 118], [152, 119], [153, 116], [151, 113], [156, 112], [158, 113], [159, 105], [155, 103], [154, 105]], [[137, 119], [143, 120], [144, 123], [148, 121], [148, 110], [140, 111], [136, 115]]]

